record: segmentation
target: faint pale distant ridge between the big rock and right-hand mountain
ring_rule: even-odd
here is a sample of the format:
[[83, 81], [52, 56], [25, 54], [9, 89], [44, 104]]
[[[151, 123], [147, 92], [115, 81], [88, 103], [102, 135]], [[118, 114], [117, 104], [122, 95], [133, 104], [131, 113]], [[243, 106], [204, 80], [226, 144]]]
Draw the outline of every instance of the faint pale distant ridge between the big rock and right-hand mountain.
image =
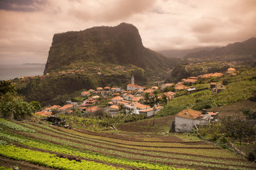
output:
[[162, 51], [159, 51], [159, 53], [170, 58], [181, 58], [188, 55], [188, 53], [199, 52], [202, 50], [210, 51], [210, 50], [213, 50], [214, 48], [216, 48], [216, 46], [205, 46], [205, 47], [198, 47], [198, 48], [184, 49], [184, 50], [162, 50]]

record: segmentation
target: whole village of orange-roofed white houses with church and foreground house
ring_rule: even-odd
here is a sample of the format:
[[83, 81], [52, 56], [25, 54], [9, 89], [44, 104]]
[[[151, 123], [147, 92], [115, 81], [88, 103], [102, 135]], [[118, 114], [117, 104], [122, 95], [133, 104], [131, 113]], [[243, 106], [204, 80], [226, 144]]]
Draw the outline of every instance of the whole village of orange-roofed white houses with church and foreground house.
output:
[[[224, 74], [235, 76], [236, 69], [230, 67]], [[72, 115], [74, 111], [93, 114], [97, 111], [108, 113], [111, 117], [118, 114], [144, 115], [145, 117], [154, 117], [157, 112], [168, 104], [174, 97], [191, 94], [200, 90], [209, 89], [212, 95], [225, 90], [222, 83], [211, 82], [210, 87], [196, 89], [193, 85], [199, 79], [221, 77], [223, 73], [210, 73], [200, 76], [191, 76], [182, 79], [178, 83], [162, 83], [152, 87], [142, 87], [136, 85], [135, 78], [132, 76], [131, 83], [127, 84], [127, 89], [120, 87], [97, 87], [81, 92], [84, 97], [83, 103], [67, 101], [64, 106], [53, 105], [36, 112], [35, 115], [57, 116], [59, 113]], [[101, 101], [105, 102], [102, 106]], [[175, 115], [170, 125], [170, 132], [189, 132], [192, 128], [198, 129], [198, 126], [208, 125], [212, 121], [218, 121], [218, 112], [207, 112], [206, 110], [182, 110]]]

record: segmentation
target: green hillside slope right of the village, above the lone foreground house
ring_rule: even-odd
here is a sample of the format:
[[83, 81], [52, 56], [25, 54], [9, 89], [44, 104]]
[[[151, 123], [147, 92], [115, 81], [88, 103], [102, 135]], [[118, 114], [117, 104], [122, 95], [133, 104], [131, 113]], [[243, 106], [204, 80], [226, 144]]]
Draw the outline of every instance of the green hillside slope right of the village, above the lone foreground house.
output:
[[[214, 106], [223, 106], [226, 104], [235, 103], [239, 100], [248, 99], [256, 91], [256, 68], [248, 71], [242, 71], [237, 76], [226, 75], [222, 78], [208, 78], [202, 82], [210, 89], [211, 81], [222, 83], [227, 81], [227, 89], [219, 94], [212, 95], [211, 90], [203, 90], [192, 94], [173, 98], [163, 110], [157, 113], [158, 117], [165, 115], [174, 115], [184, 109], [193, 108], [202, 110], [203, 108], [212, 108]], [[201, 85], [198, 84], [198, 85]]]

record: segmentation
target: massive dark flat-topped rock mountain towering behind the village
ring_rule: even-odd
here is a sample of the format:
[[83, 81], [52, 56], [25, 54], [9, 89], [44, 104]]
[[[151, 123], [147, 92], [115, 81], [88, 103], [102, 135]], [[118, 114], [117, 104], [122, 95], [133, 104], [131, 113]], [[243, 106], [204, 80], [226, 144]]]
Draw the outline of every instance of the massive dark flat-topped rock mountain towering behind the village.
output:
[[138, 29], [122, 23], [54, 34], [44, 74], [79, 61], [133, 64], [146, 71], [163, 71], [170, 59], [145, 48]]

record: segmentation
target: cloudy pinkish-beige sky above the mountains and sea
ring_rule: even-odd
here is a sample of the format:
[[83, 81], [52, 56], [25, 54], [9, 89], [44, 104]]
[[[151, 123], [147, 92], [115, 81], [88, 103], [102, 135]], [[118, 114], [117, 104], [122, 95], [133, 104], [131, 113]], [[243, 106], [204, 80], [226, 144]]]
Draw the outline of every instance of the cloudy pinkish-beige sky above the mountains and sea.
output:
[[256, 36], [256, 0], [0, 0], [0, 65], [45, 63], [55, 33], [121, 22], [156, 51], [225, 46]]

